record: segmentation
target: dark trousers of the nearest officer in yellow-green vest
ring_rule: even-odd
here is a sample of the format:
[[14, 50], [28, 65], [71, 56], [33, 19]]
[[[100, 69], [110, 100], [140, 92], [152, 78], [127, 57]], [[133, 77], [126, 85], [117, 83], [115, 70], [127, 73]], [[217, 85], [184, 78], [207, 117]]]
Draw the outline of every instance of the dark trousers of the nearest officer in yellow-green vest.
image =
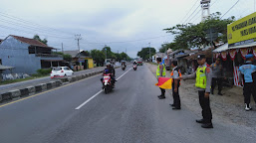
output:
[[199, 103], [202, 108], [202, 117], [206, 123], [211, 123], [212, 113], [210, 108], [210, 98], [204, 97], [205, 90], [198, 91], [199, 94]]

